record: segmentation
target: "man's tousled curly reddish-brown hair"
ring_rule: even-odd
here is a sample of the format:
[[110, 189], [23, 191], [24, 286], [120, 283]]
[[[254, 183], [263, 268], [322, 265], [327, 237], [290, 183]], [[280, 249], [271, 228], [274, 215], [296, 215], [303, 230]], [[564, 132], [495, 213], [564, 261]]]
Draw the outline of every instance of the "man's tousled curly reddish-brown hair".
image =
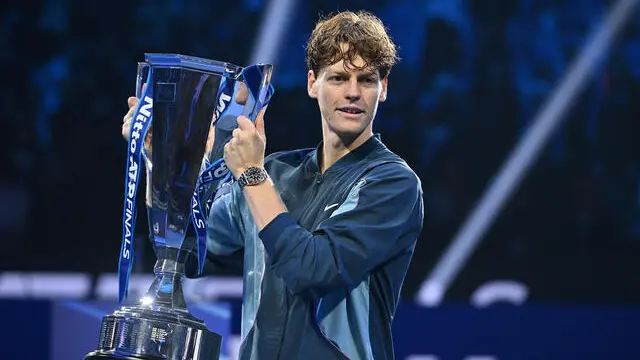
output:
[[[342, 51], [342, 44], [348, 45], [346, 51]], [[306, 51], [307, 69], [313, 70], [315, 76], [324, 67], [344, 60], [347, 69], [370, 67], [385, 78], [398, 60], [396, 45], [384, 24], [366, 11], [345, 11], [321, 18], [311, 33]], [[365, 62], [362, 67], [353, 63], [358, 55]]]

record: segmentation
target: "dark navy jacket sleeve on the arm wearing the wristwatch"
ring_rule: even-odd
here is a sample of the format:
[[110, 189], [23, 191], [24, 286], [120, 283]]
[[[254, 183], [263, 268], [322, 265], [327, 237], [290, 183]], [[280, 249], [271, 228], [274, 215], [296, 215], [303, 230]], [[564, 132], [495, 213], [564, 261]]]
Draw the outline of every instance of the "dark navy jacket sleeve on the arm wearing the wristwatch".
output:
[[401, 164], [372, 170], [317, 230], [282, 213], [261, 232], [269, 264], [294, 294], [357, 286], [376, 266], [412, 251], [422, 230], [420, 181]]

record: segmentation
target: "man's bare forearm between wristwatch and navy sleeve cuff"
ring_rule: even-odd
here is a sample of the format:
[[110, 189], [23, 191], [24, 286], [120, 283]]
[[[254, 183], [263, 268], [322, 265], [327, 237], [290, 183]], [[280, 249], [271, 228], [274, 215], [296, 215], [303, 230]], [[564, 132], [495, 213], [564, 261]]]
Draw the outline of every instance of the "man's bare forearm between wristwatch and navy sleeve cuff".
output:
[[271, 179], [260, 185], [245, 186], [242, 192], [258, 230], [264, 229], [279, 214], [287, 212]]

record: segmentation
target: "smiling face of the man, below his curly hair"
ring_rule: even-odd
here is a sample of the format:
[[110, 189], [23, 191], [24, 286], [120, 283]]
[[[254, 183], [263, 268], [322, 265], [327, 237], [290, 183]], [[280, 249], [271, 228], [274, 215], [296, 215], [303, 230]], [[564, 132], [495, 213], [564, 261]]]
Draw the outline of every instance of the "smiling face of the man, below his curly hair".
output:
[[[360, 56], [356, 67], [365, 64]], [[371, 131], [378, 103], [387, 98], [387, 78], [381, 79], [377, 69], [345, 69], [344, 61], [327, 66], [314, 74], [309, 71], [307, 90], [318, 99], [320, 113], [328, 130], [338, 136], [355, 138]]]

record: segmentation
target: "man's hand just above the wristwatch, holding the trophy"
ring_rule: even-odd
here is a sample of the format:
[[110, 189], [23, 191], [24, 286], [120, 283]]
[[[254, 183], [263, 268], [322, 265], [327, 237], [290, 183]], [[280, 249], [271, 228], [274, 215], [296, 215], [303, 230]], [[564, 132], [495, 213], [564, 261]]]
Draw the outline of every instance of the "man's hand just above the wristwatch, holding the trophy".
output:
[[224, 161], [236, 179], [252, 166], [264, 166], [267, 144], [264, 133], [265, 110], [260, 111], [255, 124], [247, 117], [239, 116], [238, 128], [233, 130], [233, 137], [224, 146]]

